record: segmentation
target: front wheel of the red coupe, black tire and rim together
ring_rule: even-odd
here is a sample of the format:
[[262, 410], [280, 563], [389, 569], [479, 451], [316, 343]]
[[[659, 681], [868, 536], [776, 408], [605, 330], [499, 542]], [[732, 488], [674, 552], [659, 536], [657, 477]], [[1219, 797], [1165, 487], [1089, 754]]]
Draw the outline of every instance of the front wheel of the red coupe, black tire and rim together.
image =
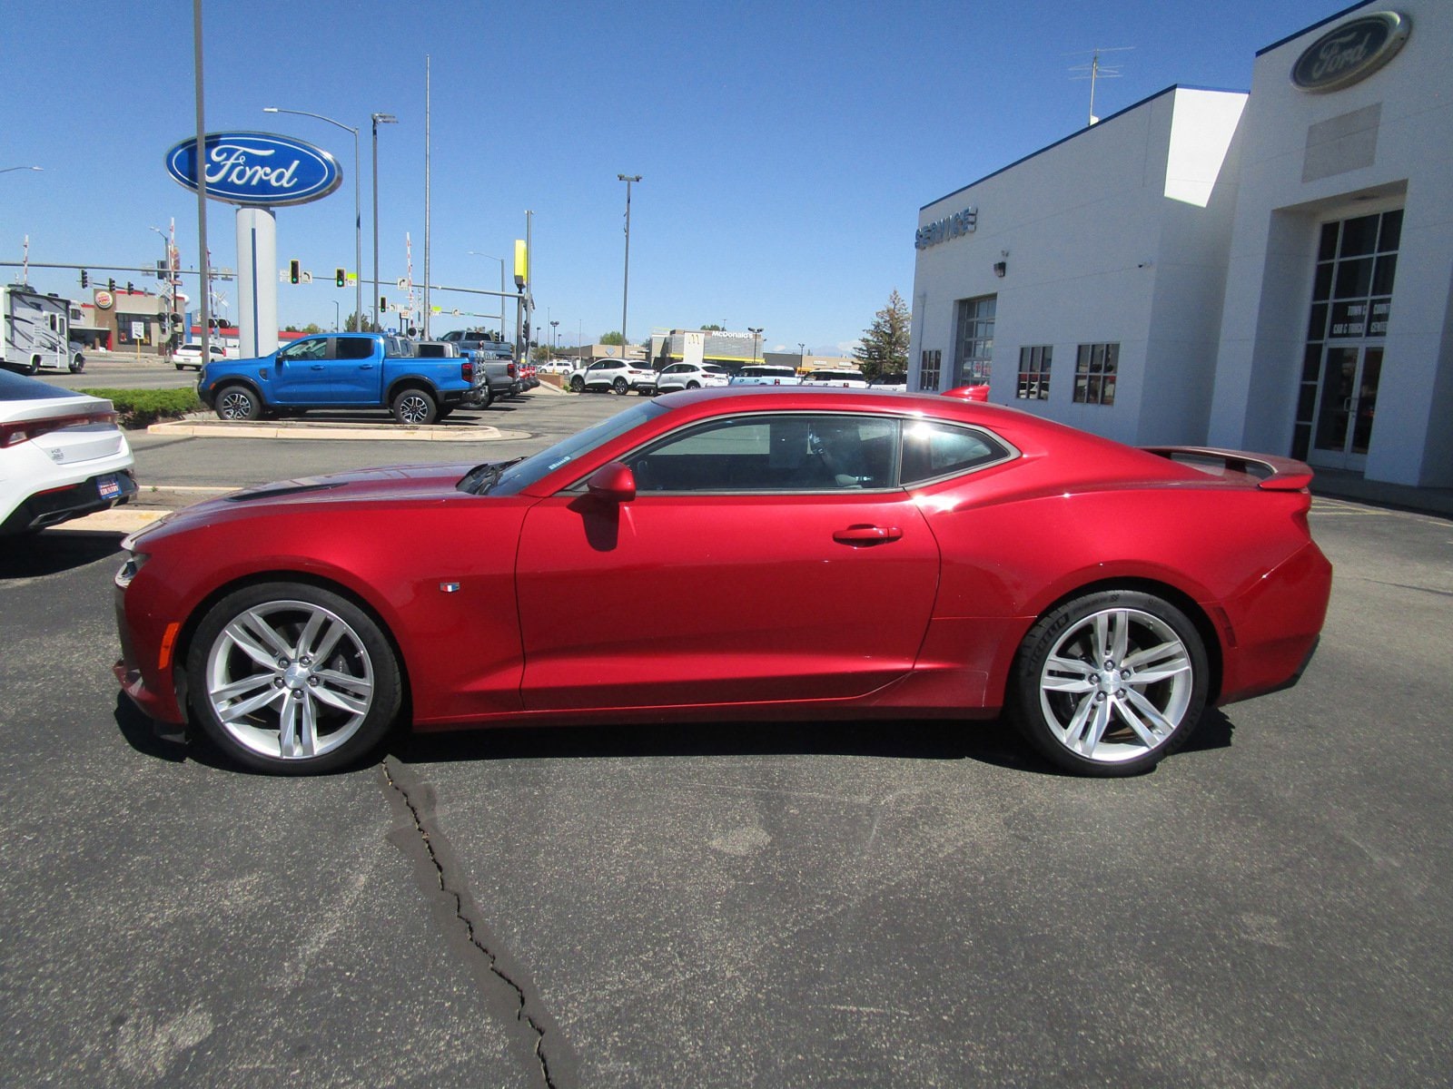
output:
[[[264, 665], [263, 655], [275, 658]], [[186, 672], [206, 739], [232, 762], [275, 775], [360, 761], [402, 707], [398, 658], [379, 624], [347, 598], [301, 582], [244, 587], [212, 605]]]

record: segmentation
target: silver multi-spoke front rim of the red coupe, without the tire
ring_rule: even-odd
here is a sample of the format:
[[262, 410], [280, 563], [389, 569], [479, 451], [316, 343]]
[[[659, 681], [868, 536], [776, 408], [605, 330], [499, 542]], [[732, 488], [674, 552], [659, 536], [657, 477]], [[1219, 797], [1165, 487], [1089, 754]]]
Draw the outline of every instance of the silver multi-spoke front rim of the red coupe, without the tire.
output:
[[205, 675], [227, 735], [278, 759], [346, 745], [373, 704], [373, 664], [359, 633], [308, 601], [238, 613], [212, 640]]

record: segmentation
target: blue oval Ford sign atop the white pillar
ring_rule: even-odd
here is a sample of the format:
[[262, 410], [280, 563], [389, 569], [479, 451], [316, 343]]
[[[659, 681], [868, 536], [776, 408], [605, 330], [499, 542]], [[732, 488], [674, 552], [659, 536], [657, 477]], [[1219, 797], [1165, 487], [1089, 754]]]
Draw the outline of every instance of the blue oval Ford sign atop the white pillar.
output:
[[[167, 173], [196, 190], [196, 138], [167, 151]], [[206, 195], [232, 205], [273, 208], [324, 197], [343, 183], [327, 151], [273, 132], [208, 132]]]

